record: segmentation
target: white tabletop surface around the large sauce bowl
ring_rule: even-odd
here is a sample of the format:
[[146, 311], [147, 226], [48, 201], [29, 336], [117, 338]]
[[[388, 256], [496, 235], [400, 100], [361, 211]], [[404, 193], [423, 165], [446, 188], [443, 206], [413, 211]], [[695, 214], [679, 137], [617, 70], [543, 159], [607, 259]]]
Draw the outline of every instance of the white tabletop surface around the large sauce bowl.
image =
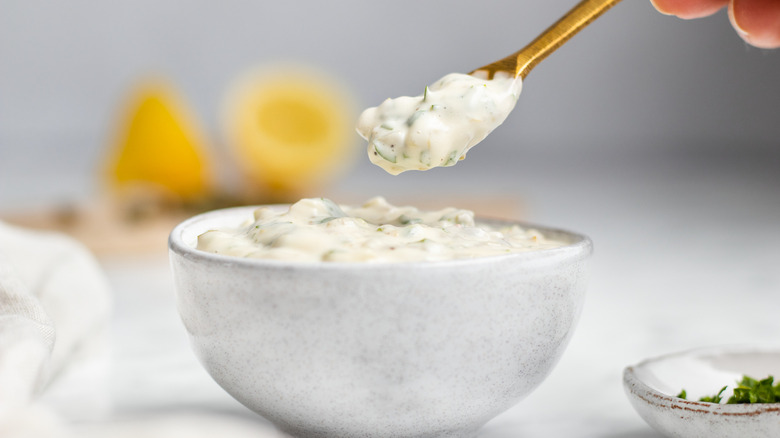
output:
[[[777, 154], [569, 164], [516, 172], [497, 163], [485, 176], [494, 191], [517, 193], [528, 219], [584, 232], [596, 252], [586, 306], [561, 362], [480, 438], [658, 437], [623, 393], [625, 366], [688, 348], [780, 341]], [[388, 188], [369, 179], [359, 190], [342, 189], [397, 195], [415, 183], [393, 181], [400, 182]], [[449, 187], [474, 192], [468, 181]], [[115, 294], [103, 415], [216, 413], [270, 427], [197, 363], [166, 257], [102, 260]]]

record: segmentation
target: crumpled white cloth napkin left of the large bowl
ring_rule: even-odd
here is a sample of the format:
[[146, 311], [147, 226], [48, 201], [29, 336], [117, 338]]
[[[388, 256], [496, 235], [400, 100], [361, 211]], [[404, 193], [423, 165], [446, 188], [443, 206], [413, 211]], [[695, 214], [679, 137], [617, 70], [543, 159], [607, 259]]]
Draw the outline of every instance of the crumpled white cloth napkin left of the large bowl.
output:
[[202, 412], [120, 420], [106, 406], [102, 418], [66, 420], [73, 416], [62, 415], [63, 407], [93, 412], [107, 404], [85, 399], [90, 391], [108, 396], [107, 382], [94, 376], [95, 363], [108, 361], [93, 359], [108, 357], [110, 297], [83, 245], [0, 222], [0, 437], [281, 436], [256, 422]]

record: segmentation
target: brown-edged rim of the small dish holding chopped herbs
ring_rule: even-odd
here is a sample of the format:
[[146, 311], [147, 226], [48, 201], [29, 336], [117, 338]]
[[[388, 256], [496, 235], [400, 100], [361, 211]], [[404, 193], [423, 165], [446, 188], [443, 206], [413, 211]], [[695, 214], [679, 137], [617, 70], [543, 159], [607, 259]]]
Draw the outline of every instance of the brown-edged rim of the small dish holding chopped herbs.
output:
[[[699, 347], [688, 350], [676, 351], [651, 358], [644, 359], [635, 365], [627, 366], [623, 370], [623, 387], [629, 396], [636, 397], [648, 405], [658, 408], [680, 409], [690, 413], [710, 414], [726, 417], [751, 417], [763, 413], [780, 414], [780, 403], [745, 403], [745, 404], [722, 404], [709, 403], [698, 400], [686, 400], [673, 394], [667, 394], [655, 389], [637, 373], [637, 369], [648, 364], [666, 361], [672, 358], [683, 356], [697, 356], [705, 354], [760, 354], [760, 353], [780, 353], [780, 345], [777, 344], [734, 344]], [[778, 376], [780, 377], [780, 376]]]

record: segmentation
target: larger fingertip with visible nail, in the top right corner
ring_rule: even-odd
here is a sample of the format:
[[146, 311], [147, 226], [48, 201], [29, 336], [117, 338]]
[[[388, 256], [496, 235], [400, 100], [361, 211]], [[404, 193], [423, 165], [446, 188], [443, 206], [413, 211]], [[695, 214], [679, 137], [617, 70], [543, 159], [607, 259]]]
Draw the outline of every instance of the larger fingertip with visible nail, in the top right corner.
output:
[[780, 47], [780, 1], [732, 0], [729, 19], [749, 44], [764, 49]]

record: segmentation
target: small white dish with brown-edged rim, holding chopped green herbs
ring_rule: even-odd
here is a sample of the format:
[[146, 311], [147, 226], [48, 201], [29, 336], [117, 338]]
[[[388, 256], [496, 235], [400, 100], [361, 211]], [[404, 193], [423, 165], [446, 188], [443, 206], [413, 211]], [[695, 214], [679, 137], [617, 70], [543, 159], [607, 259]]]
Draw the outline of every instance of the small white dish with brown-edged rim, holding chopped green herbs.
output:
[[[623, 385], [639, 415], [668, 437], [780, 437], [780, 403], [695, 401], [726, 385], [728, 398], [743, 375], [780, 377], [780, 347], [712, 347], [648, 359], [625, 369]], [[688, 400], [676, 397], [682, 389]]]

